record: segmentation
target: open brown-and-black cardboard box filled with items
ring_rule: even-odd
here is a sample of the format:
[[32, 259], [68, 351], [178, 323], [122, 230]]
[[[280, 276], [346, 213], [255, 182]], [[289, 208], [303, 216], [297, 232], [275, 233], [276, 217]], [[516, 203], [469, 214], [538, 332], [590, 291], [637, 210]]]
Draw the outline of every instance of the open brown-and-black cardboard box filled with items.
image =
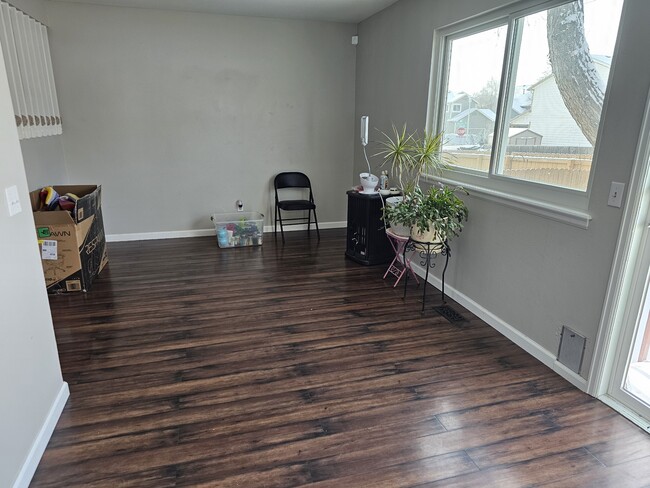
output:
[[74, 211], [40, 210], [40, 190], [29, 194], [48, 293], [88, 291], [108, 263], [101, 186], [61, 185], [79, 197]]

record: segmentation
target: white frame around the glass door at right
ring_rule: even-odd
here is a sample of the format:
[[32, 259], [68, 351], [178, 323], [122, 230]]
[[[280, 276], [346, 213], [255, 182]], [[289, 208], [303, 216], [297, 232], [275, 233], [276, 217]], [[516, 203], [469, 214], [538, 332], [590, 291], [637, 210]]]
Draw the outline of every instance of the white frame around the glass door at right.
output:
[[648, 161], [650, 161], [650, 94], [646, 99], [639, 142], [628, 185], [628, 197], [623, 207], [623, 219], [596, 336], [591, 374], [587, 382], [589, 394], [609, 404], [645, 430], [650, 430], [648, 422], [610, 397], [607, 392], [625, 325], [626, 305], [634, 291], [634, 264], [639, 258], [643, 231], [650, 224], [650, 192], [647, 191], [650, 188]]

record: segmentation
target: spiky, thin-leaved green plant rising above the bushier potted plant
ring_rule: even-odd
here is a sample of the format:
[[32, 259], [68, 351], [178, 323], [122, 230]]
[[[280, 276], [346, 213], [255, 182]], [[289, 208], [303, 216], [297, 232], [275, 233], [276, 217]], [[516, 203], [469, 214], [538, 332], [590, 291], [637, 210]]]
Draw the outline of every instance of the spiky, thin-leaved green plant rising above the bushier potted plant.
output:
[[404, 193], [419, 187], [423, 174], [439, 175], [448, 167], [447, 156], [442, 152], [443, 134], [424, 131], [420, 136], [417, 131], [409, 132], [406, 124], [402, 129], [393, 125], [391, 135], [379, 141], [381, 150], [375, 156], [383, 158], [382, 166], [389, 164], [391, 174], [399, 181]]

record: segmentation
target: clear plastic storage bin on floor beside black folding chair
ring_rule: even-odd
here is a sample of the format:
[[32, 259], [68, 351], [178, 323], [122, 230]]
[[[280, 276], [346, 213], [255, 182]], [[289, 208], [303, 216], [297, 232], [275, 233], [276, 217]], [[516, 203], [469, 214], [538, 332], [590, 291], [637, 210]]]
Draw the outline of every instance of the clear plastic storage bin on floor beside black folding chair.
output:
[[212, 214], [219, 247], [261, 246], [264, 215], [259, 212]]

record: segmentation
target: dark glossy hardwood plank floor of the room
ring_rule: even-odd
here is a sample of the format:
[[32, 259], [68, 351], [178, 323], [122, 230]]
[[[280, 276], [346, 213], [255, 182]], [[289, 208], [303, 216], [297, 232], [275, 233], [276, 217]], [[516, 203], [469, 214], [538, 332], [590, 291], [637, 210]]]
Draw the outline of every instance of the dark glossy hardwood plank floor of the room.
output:
[[650, 436], [305, 236], [114, 243], [52, 297], [71, 396], [32, 486], [650, 486]]

